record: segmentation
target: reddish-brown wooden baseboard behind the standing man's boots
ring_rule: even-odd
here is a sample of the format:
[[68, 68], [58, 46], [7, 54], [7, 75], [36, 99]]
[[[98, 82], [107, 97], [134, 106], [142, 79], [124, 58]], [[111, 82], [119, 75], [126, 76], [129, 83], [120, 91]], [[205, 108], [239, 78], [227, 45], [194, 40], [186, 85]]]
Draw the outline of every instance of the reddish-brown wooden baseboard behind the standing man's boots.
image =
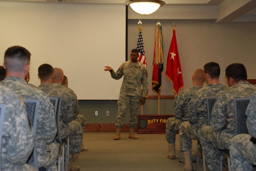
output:
[[[115, 132], [116, 126], [114, 123], [87, 123], [84, 129], [85, 132]], [[121, 130], [122, 132], [129, 132], [128, 123], [124, 124]], [[134, 129], [135, 132], [138, 131], [137, 128]]]

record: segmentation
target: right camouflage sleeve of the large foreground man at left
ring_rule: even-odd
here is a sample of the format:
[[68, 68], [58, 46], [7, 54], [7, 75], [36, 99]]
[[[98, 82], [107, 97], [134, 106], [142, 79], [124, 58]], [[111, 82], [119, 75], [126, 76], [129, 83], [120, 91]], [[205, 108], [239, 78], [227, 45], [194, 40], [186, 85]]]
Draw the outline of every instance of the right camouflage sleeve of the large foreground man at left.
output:
[[42, 110], [43, 114], [43, 118], [40, 119], [40, 121], [42, 121], [42, 127], [40, 128], [41, 135], [46, 143], [52, 143], [57, 133], [54, 107], [47, 96], [45, 96], [42, 101], [43, 104], [40, 104], [40, 110]]

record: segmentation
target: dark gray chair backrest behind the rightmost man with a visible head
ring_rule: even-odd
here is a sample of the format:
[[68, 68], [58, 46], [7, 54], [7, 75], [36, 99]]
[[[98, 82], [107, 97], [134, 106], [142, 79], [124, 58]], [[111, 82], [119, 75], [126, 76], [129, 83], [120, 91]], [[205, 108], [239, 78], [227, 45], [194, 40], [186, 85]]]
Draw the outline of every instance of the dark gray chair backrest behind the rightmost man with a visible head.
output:
[[233, 99], [234, 103], [234, 112], [235, 112], [235, 135], [240, 133], [248, 134], [248, 130], [246, 127], [246, 119], [245, 111], [248, 107], [251, 98], [236, 98]]

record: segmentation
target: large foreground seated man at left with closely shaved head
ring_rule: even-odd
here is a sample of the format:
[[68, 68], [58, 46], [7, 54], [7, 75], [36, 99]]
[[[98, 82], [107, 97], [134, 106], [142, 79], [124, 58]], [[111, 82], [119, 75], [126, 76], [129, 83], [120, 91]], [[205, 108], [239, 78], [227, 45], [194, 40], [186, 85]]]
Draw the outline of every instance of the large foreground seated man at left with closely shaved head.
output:
[[[0, 84], [9, 87], [22, 99], [38, 99], [38, 119], [36, 123], [36, 153], [38, 167], [56, 170], [59, 143], [53, 143], [56, 136], [55, 113], [48, 96], [38, 87], [28, 84], [25, 77], [30, 65], [30, 52], [21, 46], [12, 46], [4, 54], [6, 78]], [[34, 161], [29, 160], [34, 165]]]

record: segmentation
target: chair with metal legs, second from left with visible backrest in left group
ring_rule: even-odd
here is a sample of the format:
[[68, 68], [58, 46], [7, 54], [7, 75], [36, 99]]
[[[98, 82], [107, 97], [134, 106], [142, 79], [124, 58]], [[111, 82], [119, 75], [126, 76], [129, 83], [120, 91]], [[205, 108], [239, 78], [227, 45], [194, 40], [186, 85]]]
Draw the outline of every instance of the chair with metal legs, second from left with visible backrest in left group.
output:
[[54, 106], [56, 125], [58, 130], [58, 139], [57, 141], [61, 145], [61, 149], [58, 155], [58, 171], [62, 171], [64, 169], [64, 161], [66, 161], [65, 169], [68, 171], [68, 161], [69, 161], [69, 137], [67, 141], [64, 141], [60, 135], [60, 107], [62, 97], [58, 96], [49, 96], [51, 103]]

